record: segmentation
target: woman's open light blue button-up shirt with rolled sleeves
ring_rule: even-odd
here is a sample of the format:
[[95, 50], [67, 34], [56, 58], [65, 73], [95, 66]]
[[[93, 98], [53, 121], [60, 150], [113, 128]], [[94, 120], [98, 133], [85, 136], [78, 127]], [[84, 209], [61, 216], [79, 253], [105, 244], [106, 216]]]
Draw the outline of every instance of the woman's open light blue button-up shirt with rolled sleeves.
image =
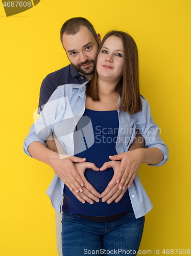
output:
[[[28, 146], [34, 141], [42, 142], [45, 145], [45, 140], [53, 131], [64, 147], [65, 153], [74, 155], [74, 131], [85, 111], [86, 83], [65, 84], [56, 89], [50, 100], [45, 104], [39, 118], [32, 125], [24, 142], [23, 150], [28, 156], [30, 156]], [[119, 129], [116, 152], [118, 154], [127, 152], [136, 136], [136, 130], [139, 130], [141, 136], [145, 139], [147, 148], [157, 147], [163, 153], [163, 160], [153, 165], [160, 166], [168, 160], [168, 147], [159, 135], [159, 127], [154, 123], [147, 100], [141, 97], [141, 101], [142, 111], [136, 114], [130, 115], [129, 112], [118, 111]], [[90, 125], [84, 127], [83, 132], [91, 133]], [[93, 141], [93, 138], [86, 140], [87, 144], [89, 142], [89, 146], [92, 145]], [[59, 211], [61, 211], [63, 188], [64, 183], [55, 174], [46, 191], [51, 198], [53, 207]], [[129, 188], [129, 196], [136, 218], [146, 215], [153, 207], [138, 175], [136, 175]]]

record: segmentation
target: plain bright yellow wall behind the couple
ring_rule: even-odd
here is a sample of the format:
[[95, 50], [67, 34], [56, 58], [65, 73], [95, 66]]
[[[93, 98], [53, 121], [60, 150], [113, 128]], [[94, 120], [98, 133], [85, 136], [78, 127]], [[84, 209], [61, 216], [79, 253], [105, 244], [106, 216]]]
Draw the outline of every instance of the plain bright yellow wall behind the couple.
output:
[[59, 31], [75, 16], [87, 18], [102, 37], [111, 29], [133, 36], [141, 93], [169, 146], [166, 165], [139, 170], [154, 205], [140, 250], [154, 254], [160, 249], [163, 255], [163, 249], [191, 247], [190, 13], [190, 0], [41, 0], [11, 17], [0, 4], [2, 256], [57, 255], [54, 209], [45, 194], [54, 172], [25, 155], [22, 143], [33, 123], [41, 81], [69, 63]]

